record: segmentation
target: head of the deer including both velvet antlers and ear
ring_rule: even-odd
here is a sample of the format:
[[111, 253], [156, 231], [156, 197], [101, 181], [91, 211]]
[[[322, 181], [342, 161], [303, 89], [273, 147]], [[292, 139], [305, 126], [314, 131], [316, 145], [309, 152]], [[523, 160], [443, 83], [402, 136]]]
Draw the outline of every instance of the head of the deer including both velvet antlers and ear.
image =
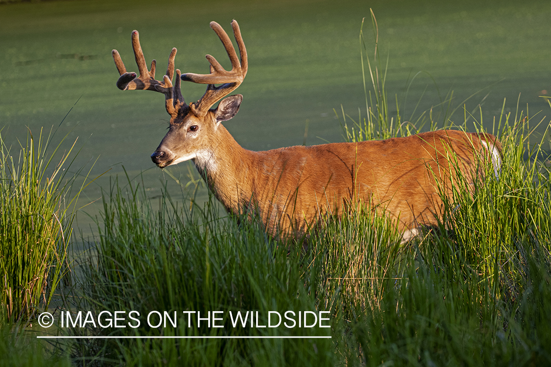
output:
[[[215, 21], [210, 23], [220, 41], [222, 41], [231, 61], [231, 70], [225, 70], [212, 56], [206, 58], [210, 63], [210, 74], [181, 74], [176, 69], [176, 81], [172, 85], [174, 76], [174, 58], [176, 48], [172, 48], [169, 56], [169, 64], [163, 81], [155, 80], [155, 60], [147, 69], [142, 47], [139, 44], [138, 31], [132, 32], [132, 47], [138, 64], [139, 76], [136, 73], [128, 73], [117, 50], [113, 50], [113, 58], [121, 75], [117, 80], [117, 87], [121, 90], [153, 90], [165, 95], [166, 112], [170, 114], [169, 132], [159, 144], [159, 147], [151, 155], [153, 162], [160, 168], [175, 165], [187, 160], [205, 160], [212, 154], [210, 147], [213, 144], [215, 132], [220, 122], [229, 120], [239, 111], [243, 99], [242, 95], [234, 95], [222, 100], [234, 91], [247, 74], [247, 51], [241, 37], [239, 25], [234, 20], [231, 22], [240, 58], [237, 58], [234, 46], [228, 34]], [[197, 102], [187, 105], [180, 90], [180, 80], [193, 83], [207, 84], [207, 91]], [[215, 86], [215, 84], [220, 84]], [[222, 100], [222, 101], [220, 101]], [[220, 101], [217, 108], [212, 106]]]

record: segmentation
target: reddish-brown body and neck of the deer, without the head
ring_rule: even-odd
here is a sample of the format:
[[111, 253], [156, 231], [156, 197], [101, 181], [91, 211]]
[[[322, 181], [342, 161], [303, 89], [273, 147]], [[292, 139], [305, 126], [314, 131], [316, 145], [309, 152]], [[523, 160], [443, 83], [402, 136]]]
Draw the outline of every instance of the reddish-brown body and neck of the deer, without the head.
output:
[[210, 190], [231, 212], [255, 211], [269, 234], [295, 238], [320, 217], [341, 215], [358, 202], [379, 207], [402, 233], [436, 225], [444, 205], [441, 190], [451, 196], [456, 167], [474, 184], [477, 172], [471, 169], [487, 150], [482, 141], [495, 141], [491, 135], [442, 130], [254, 152], [225, 128], [218, 134], [223, 146], [193, 158]]

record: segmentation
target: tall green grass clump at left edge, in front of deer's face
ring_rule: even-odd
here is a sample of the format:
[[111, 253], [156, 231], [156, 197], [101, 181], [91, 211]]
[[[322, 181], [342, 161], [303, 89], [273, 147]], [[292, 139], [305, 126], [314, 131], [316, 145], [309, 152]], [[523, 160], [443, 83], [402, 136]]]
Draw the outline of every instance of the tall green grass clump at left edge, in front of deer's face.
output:
[[16, 151], [0, 135], [0, 314], [12, 322], [46, 309], [70, 271], [74, 144], [60, 156], [51, 144], [29, 131]]

